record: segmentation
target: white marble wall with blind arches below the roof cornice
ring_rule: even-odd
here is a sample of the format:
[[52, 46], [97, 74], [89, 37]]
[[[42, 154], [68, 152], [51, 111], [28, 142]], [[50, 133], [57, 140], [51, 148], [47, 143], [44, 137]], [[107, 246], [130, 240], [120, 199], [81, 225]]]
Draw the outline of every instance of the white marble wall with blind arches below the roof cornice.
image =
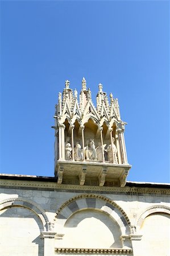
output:
[[[55, 247], [94, 249], [117, 247], [133, 249], [133, 254], [128, 255], [170, 255], [168, 195], [154, 191], [133, 195], [123, 192], [122, 188], [119, 192], [112, 193], [2, 188], [0, 193], [2, 256], [55, 255]], [[84, 194], [102, 196], [102, 198], [93, 196], [92, 200], [86, 200], [86, 197], [77, 199], [77, 196]], [[72, 200], [72, 204], [60, 209], [61, 205], [73, 197], [76, 199]], [[15, 201], [9, 204], [7, 202], [9, 199]], [[25, 200], [24, 203], [22, 200]], [[115, 209], [107, 207], [112, 201], [116, 205]], [[59, 217], [58, 214], [56, 218], [59, 209], [62, 216]], [[131, 226], [135, 226], [134, 230], [127, 228], [125, 223], [125, 226], [124, 224], [121, 226], [121, 223], [126, 222], [123, 216], [127, 216]], [[47, 225], [47, 222], [53, 224]], [[121, 240], [119, 237], [122, 236], [123, 230], [125, 230], [123, 234], [125, 239]], [[43, 232], [46, 233], [43, 235]], [[44, 241], [41, 236], [44, 236]]]

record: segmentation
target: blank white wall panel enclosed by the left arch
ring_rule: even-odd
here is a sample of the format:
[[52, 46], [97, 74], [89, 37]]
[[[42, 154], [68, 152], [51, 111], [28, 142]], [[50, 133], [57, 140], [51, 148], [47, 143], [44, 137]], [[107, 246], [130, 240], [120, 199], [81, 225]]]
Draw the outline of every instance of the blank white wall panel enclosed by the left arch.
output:
[[43, 256], [44, 241], [40, 238], [43, 224], [32, 210], [24, 207], [1, 210], [0, 230], [2, 255]]

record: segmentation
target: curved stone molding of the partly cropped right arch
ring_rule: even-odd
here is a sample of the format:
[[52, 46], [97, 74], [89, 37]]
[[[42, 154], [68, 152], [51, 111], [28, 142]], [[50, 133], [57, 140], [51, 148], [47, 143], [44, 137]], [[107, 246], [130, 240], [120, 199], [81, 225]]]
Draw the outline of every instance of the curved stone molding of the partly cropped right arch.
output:
[[140, 228], [144, 219], [152, 213], [167, 213], [170, 215], [170, 208], [165, 205], [152, 205], [151, 207], [146, 208], [144, 212], [140, 214], [138, 221], [136, 222], [138, 229]]

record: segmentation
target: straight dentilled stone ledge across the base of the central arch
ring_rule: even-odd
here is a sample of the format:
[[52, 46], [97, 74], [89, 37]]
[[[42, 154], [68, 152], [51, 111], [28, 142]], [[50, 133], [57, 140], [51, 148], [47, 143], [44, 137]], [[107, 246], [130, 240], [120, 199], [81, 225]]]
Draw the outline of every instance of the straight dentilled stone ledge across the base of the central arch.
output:
[[85, 253], [85, 254], [132, 254], [132, 249], [109, 248], [109, 249], [90, 249], [90, 248], [55, 248], [56, 253]]

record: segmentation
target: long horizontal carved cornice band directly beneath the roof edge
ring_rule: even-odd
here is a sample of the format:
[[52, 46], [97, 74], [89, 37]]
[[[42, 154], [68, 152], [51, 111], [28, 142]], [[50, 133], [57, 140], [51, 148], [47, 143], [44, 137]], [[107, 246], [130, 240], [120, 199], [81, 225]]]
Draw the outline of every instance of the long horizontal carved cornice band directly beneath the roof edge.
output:
[[139, 187], [99, 187], [99, 186], [81, 186], [57, 184], [56, 182], [42, 182], [42, 181], [24, 181], [24, 180], [0, 180], [0, 187], [11, 188], [38, 188], [38, 189], [55, 189], [56, 191], [95, 191], [95, 192], [122, 192], [131, 193], [131, 195], [138, 195], [138, 193], [151, 193], [160, 195], [170, 195], [168, 188], [139, 188]]

